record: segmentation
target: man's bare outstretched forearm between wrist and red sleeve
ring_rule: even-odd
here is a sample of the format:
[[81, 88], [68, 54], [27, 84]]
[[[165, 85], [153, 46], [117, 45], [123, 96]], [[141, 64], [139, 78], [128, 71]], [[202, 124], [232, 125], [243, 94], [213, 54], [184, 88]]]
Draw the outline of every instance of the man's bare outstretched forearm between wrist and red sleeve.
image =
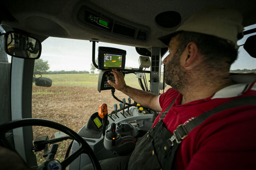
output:
[[159, 110], [160, 106], [158, 105], [157, 94], [135, 89], [130, 86], [126, 86], [123, 90], [121, 90], [121, 92], [128, 95], [135, 102], [139, 103], [142, 106], [151, 108], [156, 111], [161, 111]]

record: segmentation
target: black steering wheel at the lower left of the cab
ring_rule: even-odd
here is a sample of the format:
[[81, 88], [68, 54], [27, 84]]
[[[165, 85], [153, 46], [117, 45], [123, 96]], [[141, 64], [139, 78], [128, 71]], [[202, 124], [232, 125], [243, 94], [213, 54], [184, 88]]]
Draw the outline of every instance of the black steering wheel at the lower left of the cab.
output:
[[0, 125], [0, 129], [1, 129], [0, 140], [2, 141], [4, 146], [8, 147], [11, 150], [14, 150], [13, 147], [10, 145], [10, 143], [6, 140], [5, 133], [8, 130], [11, 130], [14, 128], [25, 127], [25, 126], [43, 126], [43, 127], [54, 128], [54, 129], [57, 129], [57, 130], [60, 130], [64, 133], [66, 133], [67, 135], [69, 135], [70, 137], [72, 137], [74, 140], [76, 140], [78, 142], [79, 149], [77, 151], [75, 151], [72, 155], [67, 157], [65, 160], [60, 162], [62, 170], [66, 169], [66, 167], [82, 153], [88, 154], [88, 156], [91, 159], [94, 169], [101, 170], [100, 163], [99, 163], [96, 155], [94, 154], [92, 148], [81, 136], [79, 136], [76, 132], [74, 132], [70, 128], [68, 128], [64, 125], [61, 125], [59, 123], [53, 122], [53, 121], [49, 121], [49, 120], [20, 119], [20, 120], [14, 120], [14, 121]]

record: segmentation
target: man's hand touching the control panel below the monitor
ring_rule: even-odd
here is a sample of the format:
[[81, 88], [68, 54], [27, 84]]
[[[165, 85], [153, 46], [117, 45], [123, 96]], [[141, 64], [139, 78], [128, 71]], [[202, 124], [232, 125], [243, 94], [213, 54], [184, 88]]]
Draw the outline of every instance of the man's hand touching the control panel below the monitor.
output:
[[108, 84], [110, 84], [116, 90], [123, 91], [126, 87], [123, 73], [121, 71], [118, 71], [117, 69], [112, 69], [112, 71], [110, 71], [110, 73], [114, 75], [115, 83], [108, 80]]

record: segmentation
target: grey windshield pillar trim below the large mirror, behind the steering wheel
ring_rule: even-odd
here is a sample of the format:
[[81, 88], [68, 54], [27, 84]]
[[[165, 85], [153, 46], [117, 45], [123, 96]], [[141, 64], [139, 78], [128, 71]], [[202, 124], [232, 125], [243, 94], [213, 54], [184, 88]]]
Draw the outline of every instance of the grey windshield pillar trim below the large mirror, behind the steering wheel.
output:
[[[32, 77], [34, 60], [12, 58], [11, 70], [11, 112], [12, 120], [31, 118]], [[37, 166], [36, 156], [32, 152], [32, 127], [13, 129], [14, 145], [17, 152], [29, 167]]]

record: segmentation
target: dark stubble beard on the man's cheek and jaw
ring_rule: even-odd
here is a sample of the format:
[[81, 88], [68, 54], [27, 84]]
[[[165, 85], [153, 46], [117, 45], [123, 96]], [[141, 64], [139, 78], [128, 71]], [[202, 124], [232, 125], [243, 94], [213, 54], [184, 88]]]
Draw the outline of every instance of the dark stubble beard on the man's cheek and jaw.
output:
[[176, 52], [172, 59], [165, 64], [164, 81], [176, 91], [182, 93], [187, 85], [187, 71], [180, 65], [181, 52]]

